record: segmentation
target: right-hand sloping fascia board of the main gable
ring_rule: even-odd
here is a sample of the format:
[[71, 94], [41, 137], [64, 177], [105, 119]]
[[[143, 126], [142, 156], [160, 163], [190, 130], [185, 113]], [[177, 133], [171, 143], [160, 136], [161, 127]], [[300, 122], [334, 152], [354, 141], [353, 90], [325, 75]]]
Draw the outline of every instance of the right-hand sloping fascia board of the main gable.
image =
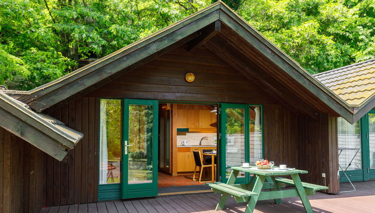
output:
[[[220, 20], [236, 31], [242, 38], [270, 58], [282, 70], [288, 73], [301, 85], [314, 93], [319, 99], [337, 111], [347, 120], [352, 120], [353, 107], [348, 106], [342, 99], [317, 81], [311, 74], [304, 71], [293, 59], [275, 47], [267, 38], [252, 28], [245, 20], [224, 5], [221, 5]], [[233, 21], [235, 20], [235, 21]], [[250, 34], [249, 34], [250, 32]], [[297, 71], [297, 72], [295, 72]], [[301, 78], [302, 77], [302, 78]]]

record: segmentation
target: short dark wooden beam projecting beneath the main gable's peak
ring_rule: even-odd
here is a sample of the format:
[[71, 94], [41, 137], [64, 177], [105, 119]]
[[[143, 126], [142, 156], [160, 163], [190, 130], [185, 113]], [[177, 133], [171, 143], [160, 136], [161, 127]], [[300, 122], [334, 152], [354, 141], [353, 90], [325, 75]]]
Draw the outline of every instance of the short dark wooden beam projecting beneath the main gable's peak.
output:
[[187, 43], [187, 52], [191, 53], [196, 48], [204, 45], [208, 40], [214, 37], [221, 30], [220, 21], [215, 21], [208, 27], [201, 30], [200, 35]]

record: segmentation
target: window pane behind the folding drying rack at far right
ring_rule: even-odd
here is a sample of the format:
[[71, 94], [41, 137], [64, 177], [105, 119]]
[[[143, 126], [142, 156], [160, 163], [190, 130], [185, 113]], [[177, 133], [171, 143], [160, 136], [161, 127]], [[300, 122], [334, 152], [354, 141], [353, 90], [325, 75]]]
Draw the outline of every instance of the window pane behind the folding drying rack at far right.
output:
[[[344, 118], [338, 118], [339, 164], [343, 170], [349, 165], [348, 170], [362, 169], [361, 155], [361, 128], [360, 121], [350, 124]], [[357, 151], [359, 152], [357, 153]], [[341, 152], [341, 153], [340, 153]], [[357, 155], [356, 155], [357, 153]]]

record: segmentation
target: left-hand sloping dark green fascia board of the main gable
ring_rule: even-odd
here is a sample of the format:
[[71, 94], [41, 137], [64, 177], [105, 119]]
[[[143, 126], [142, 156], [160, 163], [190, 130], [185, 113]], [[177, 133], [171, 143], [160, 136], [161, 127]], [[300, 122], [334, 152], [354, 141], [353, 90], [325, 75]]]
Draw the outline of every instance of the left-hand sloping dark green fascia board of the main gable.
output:
[[[121, 71], [125, 68], [130, 67], [131, 65], [136, 64], [142, 59], [156, 54], [161, 50], [167, 50], [173, 44], [178, 42], [186, 43], [185, 38], [188, 38], [189, 35], [196, 33], [198, 30], [206, 27], [207, 25], [215, 22], [219, 19], [219, 11], [214, 10], [208, 14], [203, 14], [199, 19], [196, 19], [188, 24], [185, 24], [184, 27], [179, 27], [177, 30], [174, 30], [164, 36], [161, 36], [159, 39], [154, 40], [151, 43], [142, 44], [142, 47], [138, 47], [137, 51], [131, 51], [126, 54], [121, 54], [122, 57], [110, 58], [110, 63], [106, 63], [106, 66], [96, 67], [96, 72], [94, 70], [81, 75], [80, 78], [71, 80], [70, 84], [67, 84], [68, 81], [64, 82], [59, 86], [51, 86], [51, 88], [46, 88], [49, 91], [43, 91], [43, 94], [36, 94], [39, 97], [34, 98], [34, 100], [28, 102], [28, 105], [34, 108], [36, 111], [40, 112], [52, 105], [55, 105], [62, 100], [69, 98], [70, 96], [77, 94], [84, 89], [98, 83], [99, 81]], [[196, 34], [198, 36], [198, 34]], [[188, 40], [190, 40], [189, 38]], [[156, 55], [155, 57], [157, 57]], [[128, 70], [130, 71], [130, 70]], [[53, 90], [52, 90], [53, 87]], [[52, 92], [54, 91], [54, 92]], [[52, 92], [52, 93], [51, 93]]]

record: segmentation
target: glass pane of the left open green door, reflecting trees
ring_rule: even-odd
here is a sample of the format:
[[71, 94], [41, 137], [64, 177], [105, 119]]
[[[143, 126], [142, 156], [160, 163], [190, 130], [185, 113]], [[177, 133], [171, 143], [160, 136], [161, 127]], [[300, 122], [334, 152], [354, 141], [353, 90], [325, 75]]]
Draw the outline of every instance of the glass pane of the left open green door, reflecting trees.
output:
[[152, 183], [153, 106], [129, 105], [128, 184]]

